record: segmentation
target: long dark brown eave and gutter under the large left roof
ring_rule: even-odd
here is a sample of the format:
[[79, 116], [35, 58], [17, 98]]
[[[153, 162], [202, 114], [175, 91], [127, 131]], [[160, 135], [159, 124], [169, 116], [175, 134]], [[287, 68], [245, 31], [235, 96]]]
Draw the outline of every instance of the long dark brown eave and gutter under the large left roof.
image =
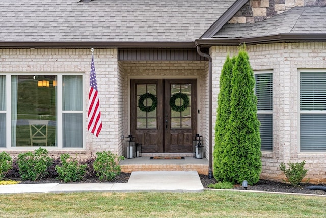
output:
[[194, 42], [0, 41], [0, 48], [194, 48]]

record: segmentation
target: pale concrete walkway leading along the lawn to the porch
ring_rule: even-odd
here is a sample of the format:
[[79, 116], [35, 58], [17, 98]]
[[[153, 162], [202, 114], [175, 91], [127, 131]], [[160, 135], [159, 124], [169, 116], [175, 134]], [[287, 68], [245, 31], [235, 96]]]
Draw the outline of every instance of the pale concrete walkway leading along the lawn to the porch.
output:
[[0, 194], [64, 192], [201, 192], [196, 171], [135, 171], [127, 183], [17, 184], [0, 185]]

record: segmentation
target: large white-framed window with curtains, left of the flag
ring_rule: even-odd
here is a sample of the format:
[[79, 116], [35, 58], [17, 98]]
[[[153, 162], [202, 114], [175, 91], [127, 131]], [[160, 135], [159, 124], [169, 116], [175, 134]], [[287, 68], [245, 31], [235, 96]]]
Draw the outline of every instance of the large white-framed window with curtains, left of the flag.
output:
[[83, 93], [82, 75], [0, 75], [0, 147], [83, 147]]

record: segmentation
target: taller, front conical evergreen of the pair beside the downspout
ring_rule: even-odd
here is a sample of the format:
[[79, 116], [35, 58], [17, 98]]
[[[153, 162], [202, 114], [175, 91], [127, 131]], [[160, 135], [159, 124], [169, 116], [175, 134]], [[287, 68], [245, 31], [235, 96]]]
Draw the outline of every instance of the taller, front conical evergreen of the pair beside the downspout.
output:
[[247, 180], [252, 185], [261, 172], [260, 122], [254, 72], [244, 46], [240, 46], [232, 68], [231, 86], [230, 114], [220, 137], [222, 142], [218, 141], [222, 148], [215, 152], [214, 176], [219, 181], [240, 184]]

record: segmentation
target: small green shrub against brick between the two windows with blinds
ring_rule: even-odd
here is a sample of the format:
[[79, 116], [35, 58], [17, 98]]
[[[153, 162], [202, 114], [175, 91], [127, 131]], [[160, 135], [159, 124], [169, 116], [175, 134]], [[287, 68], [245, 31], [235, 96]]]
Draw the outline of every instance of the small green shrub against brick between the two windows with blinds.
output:
[[306, 161], [302, 161], [301, 163], [289, 163], [288, 169], [286, 169], [285, 163], [280, 164], [280, 169], [289, 180], [293, 187], [297, 186], [303, 178], [306, 176], [308, 169], [305, 169]]

